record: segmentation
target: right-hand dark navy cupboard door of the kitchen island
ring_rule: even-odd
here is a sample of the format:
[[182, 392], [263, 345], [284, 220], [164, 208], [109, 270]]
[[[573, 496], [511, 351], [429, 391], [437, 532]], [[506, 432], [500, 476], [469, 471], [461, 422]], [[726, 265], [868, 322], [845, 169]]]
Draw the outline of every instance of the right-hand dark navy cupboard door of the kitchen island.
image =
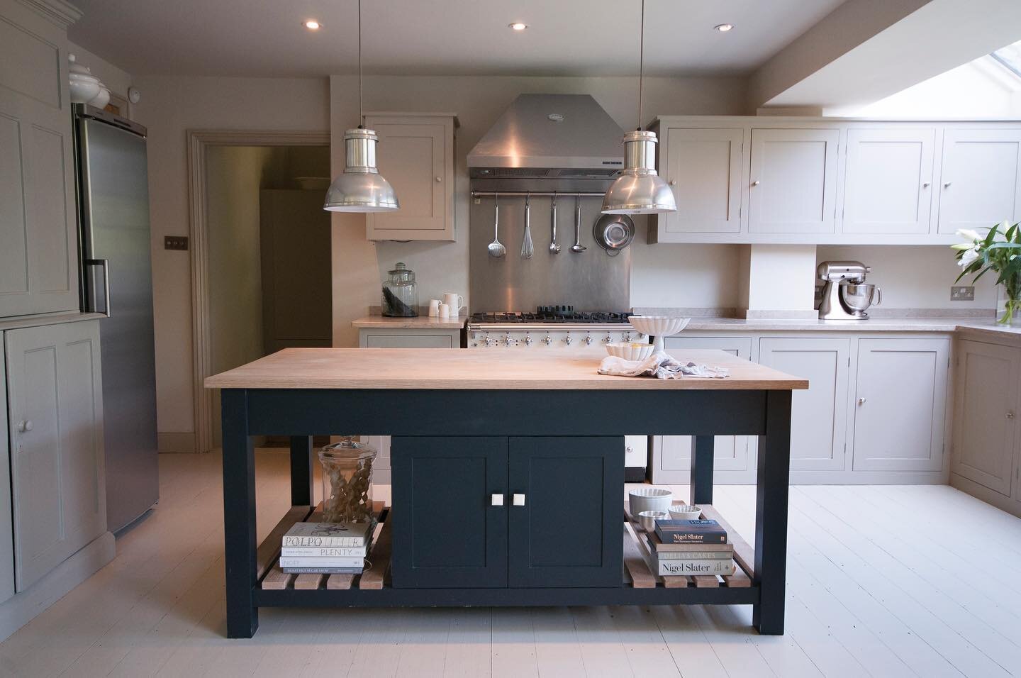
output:
[[510, 438], [512, 587], [620, 586], [624, 437]]

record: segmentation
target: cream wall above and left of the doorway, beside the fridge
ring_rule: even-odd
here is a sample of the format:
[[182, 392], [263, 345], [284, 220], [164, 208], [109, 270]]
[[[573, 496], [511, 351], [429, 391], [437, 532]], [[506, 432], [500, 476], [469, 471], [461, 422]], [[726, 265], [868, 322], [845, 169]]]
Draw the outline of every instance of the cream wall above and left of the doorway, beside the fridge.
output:
[[133, 115], [149, 130], [156, 410], [161, 433], [194, 431], [190, 252], [162, 248], [188, 235], [188, 130], [330, 129], [326, 79], [136, 78]]

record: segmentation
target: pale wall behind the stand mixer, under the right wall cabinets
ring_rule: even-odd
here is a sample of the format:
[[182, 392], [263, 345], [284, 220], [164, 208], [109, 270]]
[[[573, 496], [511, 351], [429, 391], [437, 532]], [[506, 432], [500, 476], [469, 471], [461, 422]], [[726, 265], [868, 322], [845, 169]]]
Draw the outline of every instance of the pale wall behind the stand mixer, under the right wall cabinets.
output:
[[[882, 287], [882, 308], [993, 308], [996, 290], [993, 278], [983, 276], [975, 285], [974, 301], [951, 301], [951, 285], [961, 273], [950, 247], [879, 247], [820, 245], [819, 261], [850, 259], [872, 267], [869, 282]], [[971, 285], [969, 279], [958, 285]]]

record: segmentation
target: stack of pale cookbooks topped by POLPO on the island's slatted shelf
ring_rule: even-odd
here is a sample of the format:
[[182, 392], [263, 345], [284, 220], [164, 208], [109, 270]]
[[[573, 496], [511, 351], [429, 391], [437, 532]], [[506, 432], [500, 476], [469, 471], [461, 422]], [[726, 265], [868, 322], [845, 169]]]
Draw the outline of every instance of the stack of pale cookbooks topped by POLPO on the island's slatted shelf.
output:
[[371, 523], [295, 523], [280, 550], [288, 574], [356, 575], [369, 553]]

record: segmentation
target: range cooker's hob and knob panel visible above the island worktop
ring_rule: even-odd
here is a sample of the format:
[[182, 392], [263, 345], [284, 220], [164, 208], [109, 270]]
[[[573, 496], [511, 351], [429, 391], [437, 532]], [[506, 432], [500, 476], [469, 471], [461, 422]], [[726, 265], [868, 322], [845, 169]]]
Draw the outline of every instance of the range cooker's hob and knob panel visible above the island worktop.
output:
[[468, 347], [476, 349], [562, 350], [605, 355], [612, 341], [645, 341], [628, 323], [627, 311], [579, 311], [570, 305], [534, 311], [472, 313], [466, 326]]

